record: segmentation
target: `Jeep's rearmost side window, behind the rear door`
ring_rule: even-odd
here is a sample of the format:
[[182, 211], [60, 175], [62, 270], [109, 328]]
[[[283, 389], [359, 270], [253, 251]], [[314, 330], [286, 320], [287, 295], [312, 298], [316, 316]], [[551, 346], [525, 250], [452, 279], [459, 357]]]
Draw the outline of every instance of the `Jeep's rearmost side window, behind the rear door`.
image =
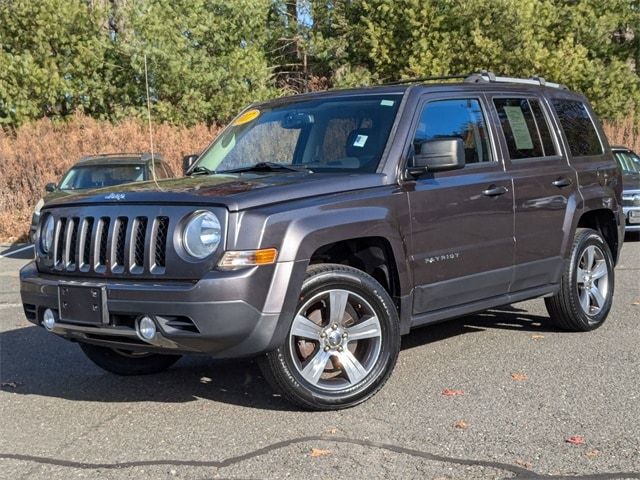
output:
[[553, 100], [560, 125], [574, 157], [602, 155], [602, 144], [587, 107], [576, 100]]

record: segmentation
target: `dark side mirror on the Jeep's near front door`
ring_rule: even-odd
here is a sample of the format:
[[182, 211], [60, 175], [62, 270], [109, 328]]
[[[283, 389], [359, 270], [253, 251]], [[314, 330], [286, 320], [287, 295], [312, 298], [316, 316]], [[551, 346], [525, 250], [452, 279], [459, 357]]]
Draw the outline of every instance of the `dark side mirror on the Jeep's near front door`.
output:
[[464, 143], [461, 138], [438, 138], [422, 142], [409, 167], [409, 174], [444, 172], [464, 168]]

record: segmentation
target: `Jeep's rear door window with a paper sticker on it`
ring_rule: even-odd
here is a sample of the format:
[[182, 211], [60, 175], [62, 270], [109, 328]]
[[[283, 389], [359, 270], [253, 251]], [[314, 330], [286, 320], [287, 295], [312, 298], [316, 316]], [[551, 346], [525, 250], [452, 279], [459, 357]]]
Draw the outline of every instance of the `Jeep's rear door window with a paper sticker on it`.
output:
[[540, 102], [532, 98], [493, 100], [512, 159], [557, 155]]

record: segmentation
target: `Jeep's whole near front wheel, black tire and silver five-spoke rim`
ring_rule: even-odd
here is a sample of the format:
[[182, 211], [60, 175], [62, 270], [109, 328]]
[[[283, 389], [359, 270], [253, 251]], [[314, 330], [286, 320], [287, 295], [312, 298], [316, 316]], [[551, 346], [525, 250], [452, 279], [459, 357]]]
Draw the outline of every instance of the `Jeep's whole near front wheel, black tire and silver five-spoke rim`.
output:
[[376, 280], [344, 265], [312, 265], [286, 340], [260, 366], [293, 403], [337, 410], [380, 390], [399, 351], [398, 313]]

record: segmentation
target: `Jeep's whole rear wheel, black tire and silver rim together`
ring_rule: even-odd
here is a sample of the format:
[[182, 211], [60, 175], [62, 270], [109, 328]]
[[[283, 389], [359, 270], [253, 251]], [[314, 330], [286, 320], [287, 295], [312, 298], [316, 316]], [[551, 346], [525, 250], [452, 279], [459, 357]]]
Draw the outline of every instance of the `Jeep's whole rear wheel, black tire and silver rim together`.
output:
[[576, 231], [560, 291], [545, 303], [551, 320], [564, 330], [585, 332], [602, 325], [613, 301], [613, 257], [600, 233]]

